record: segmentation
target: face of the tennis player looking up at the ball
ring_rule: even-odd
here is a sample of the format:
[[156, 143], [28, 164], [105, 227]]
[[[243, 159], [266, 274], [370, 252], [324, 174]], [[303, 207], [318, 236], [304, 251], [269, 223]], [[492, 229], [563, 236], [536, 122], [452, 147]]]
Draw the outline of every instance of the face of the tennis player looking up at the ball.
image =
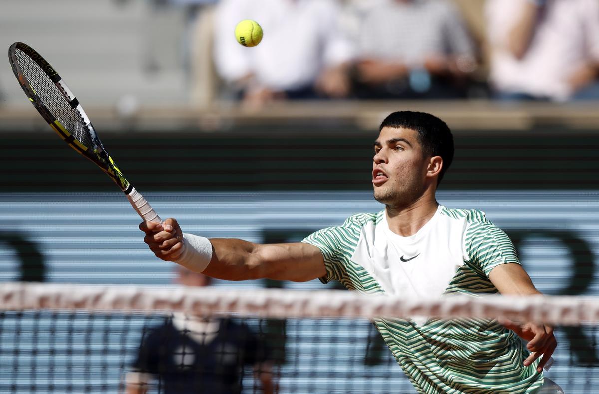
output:
[[383, 128], [374, 143], [374, 198], [392, 207], [412, 204], [425, 191], [428, 163], [418, 132]]

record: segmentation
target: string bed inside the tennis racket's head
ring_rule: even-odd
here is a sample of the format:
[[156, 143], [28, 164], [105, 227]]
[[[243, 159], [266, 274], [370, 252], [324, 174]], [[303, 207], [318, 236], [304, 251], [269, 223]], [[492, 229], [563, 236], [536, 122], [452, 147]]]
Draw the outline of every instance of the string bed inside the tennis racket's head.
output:
[[81, 113], [69, 104], [69, 100], [74, 97], [67, 99], [66, 92], [57, 86], [28, 54], [17, 50], [16, 56], [23, 74], [29, 80], [42, 104], [81, 144], [89, 148], [93, 147], [89, 128], [81, 117]]

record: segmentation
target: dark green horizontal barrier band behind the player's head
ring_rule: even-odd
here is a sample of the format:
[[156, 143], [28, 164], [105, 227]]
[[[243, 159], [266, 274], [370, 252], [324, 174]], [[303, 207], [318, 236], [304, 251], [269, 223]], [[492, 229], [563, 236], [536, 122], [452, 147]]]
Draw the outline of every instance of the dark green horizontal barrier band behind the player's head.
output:
[[[596, 189], [599, 133], [455, 133], [444, 189]], [[51, 131], [0, 137], [5, 192], [107, 190], [102, 172]], [[370, 190], [376, 132], [107, 134], [138, 190]]]

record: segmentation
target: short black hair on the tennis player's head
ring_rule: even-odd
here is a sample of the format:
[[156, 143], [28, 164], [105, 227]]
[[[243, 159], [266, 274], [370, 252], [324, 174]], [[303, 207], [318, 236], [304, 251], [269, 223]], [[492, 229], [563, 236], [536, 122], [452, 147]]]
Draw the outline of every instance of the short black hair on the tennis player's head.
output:
[[380, 124], [379, 132], [385, 128], [410, 129], [418, 132], [418, 139], [429, 156], [441, 156], [443, 169], [437, 179], [441, 183], [443, 175], [453, 161], [453, 135], [443, 120], [424, 112], [394, 112]]

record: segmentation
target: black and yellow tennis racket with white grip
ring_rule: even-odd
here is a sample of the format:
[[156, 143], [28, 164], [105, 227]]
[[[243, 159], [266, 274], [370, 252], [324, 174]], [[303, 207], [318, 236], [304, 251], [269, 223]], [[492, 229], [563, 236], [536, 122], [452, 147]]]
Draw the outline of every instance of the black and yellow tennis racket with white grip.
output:
[[83, 107], [50, 63], [23, 43], [11, 45], [8, 59], [23, 92], [56, 134], [108, 174], [146, 222], [162, 222], [144, 196], [123, 176], [102, 146]]

